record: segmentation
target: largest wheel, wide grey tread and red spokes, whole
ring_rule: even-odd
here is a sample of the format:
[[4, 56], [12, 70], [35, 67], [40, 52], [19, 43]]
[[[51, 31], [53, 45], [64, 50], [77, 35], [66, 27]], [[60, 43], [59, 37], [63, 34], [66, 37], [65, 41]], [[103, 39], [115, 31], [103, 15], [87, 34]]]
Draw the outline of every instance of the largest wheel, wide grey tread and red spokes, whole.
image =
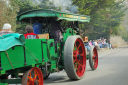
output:
[[84, 43], [80, 36], [70, 36], [66, 40], [64, 65], [69, 78], [83, 78], [86, 68], [86, 53]]

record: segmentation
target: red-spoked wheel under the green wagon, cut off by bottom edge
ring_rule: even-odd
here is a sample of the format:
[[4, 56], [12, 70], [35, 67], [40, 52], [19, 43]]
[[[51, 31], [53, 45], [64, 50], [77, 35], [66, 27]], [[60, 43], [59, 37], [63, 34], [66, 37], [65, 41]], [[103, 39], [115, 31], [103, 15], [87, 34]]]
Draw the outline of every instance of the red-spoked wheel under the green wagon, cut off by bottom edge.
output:
[[22, 85], [43, 85], [43, 75], [39, 68], [26, 71], [22, 77]]

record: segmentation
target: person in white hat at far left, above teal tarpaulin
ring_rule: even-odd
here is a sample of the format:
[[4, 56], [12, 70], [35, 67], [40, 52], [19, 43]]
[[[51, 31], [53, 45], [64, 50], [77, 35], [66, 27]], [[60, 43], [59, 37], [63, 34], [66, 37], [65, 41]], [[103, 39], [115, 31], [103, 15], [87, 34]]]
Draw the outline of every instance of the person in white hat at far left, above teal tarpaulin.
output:
[[2, 31], [0, 31], [0, 35], [2, 36], [10, 33], [13, 33], [13, 31], [11, 31], [11, 25], [9, 23], [5, 23]]

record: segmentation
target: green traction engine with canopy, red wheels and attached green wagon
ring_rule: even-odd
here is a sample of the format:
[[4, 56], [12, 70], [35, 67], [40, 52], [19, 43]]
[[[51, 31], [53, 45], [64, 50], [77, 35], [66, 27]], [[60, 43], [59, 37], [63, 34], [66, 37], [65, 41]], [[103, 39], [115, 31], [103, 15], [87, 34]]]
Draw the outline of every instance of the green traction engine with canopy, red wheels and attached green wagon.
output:
[[[78, 22], [89, 22], [89, 16], [38, 9], [20, 14], [17, 21], [31, 23], [37, 17], [45, 19], [48, 26], [44, 34], [49, 34], [49, 38], [26, 39], [23, 45], [14, 45], [0, 51], [0, 85], [43, 85], [43, 80], [47, 79], [50, 73], [63, 69], [70, 79], [79, 80], [84, 76], [87, 59], [92, 70], [97, 68], [96, 48], [91, 47], [87, 52], [79, 30], [76, 29]], [[50, 38], [48, 24], [48, 20], [53, 17], [63, 20], [62, 24], [65, 25], [63, 39], [57, 43], [57, 53], [54, 39]], [[20, 38], [19, 41], [22, 42]], [[10, 75], [11, 78], [8, 77]]]

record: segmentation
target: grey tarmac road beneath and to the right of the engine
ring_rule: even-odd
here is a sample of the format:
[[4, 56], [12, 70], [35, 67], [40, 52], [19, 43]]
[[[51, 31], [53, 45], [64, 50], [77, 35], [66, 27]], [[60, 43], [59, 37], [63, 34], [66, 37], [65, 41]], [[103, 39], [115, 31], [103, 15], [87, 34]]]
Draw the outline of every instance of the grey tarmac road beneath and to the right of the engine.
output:
[[92, 71], [87, 60], [84, 78], [70, 80], [63, 70], [52, 73], [44, 85], [128, 85], [128, 46], [99, 52], [99, 66]]

